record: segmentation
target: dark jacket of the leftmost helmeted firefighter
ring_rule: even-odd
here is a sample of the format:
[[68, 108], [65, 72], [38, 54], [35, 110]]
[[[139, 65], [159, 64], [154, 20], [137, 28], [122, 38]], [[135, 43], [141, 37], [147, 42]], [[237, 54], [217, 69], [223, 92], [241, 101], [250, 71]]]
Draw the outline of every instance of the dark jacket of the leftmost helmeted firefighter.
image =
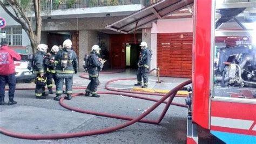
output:
[[44, 59], [45, 53], [42, 51], [37, 51], [36, 54], [33, 56], [33, 70], [35, 74], [41, 74], [45, 71]]

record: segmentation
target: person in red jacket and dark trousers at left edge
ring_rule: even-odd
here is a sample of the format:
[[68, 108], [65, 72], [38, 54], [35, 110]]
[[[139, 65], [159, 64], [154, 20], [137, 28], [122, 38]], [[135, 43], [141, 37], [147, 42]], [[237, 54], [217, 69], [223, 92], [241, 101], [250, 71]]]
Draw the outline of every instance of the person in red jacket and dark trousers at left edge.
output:
[[8, 47], [6, 41], [1, 42], [0, 48], [0, 105], [4, 105], [5, 84], [9, 85], [9, 102], [8, 105], [17, 104], [14, 100], [16, 87], [14, 60], [21, 60], [21, 55]]

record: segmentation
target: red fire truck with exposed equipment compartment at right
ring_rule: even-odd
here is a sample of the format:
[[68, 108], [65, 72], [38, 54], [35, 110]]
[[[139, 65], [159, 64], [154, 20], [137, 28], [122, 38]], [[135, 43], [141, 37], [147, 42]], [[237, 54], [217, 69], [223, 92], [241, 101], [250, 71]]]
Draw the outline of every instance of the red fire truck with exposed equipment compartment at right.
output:
[[197, 125], [226, 143], [256, 143], [255, 11], [256, 1], [194, 1], [187, 143], [198, 143]]

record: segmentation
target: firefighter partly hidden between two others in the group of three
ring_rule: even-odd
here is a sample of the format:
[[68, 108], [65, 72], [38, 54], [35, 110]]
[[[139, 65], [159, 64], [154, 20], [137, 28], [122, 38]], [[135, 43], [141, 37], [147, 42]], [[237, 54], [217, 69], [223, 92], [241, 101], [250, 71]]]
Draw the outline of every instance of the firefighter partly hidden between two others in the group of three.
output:
[[53, 91], [52, 91], [53, 81], [52, 81], [52, 79], [56, 83], [55, 56], [56, 56], [56, 53], [58, 51], [59, 51], [59, 47], [55, 45], [51, 48], [51, 52], [46, 54], [47, 55], [47, 58], [45, 60], [45, 65], [47, 67], [47, 69], [46, 69], [46, 78], [47, 78], [46, 84], [47, 84], [47, 88], [48, 88], [50, 94], [53, 94]]

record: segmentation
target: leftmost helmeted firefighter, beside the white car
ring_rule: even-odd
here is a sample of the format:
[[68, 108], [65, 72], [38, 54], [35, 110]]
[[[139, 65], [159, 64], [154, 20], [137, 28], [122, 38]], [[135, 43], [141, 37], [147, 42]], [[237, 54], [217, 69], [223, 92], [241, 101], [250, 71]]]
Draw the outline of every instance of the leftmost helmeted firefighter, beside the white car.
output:
[[45, 99], [48, 96], [48, 93], [45, 93], [45, 85], [46, 85], [46, 77], [45, 77], [45, 54], [47, 52], [48, 46], [45, 44], [39, 44], [37, 46], [37, 52], [33, 56], [33, 71], [37, 74], [35, 83], [36, 90], [35, 96], [36, 98]]

